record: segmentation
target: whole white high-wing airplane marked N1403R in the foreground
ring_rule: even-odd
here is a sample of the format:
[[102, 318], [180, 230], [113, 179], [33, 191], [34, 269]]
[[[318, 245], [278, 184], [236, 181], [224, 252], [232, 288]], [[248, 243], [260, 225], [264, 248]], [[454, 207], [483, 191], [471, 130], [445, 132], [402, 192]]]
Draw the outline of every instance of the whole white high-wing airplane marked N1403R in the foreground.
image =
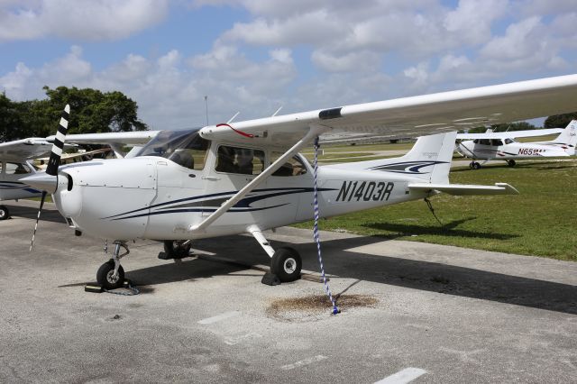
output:
[[[114, 239], [112, 259], [96, 273], [105, 288], [123, 284], [120, 259], [128, 253], [129, 240], [162, 239], [169, 257], [180, 257], [188, 254], [190, 241], [236, 233], [252, 233], [270, 256], [271, 271], [281, 281], [292, 281], [300, 274], [300, 256], [291, 248], [275, 251], [262, 231], [311, 219], [316, 186], [322, 217], [439, 192], [517, 193], [501, 183], [450, 184], [454, 131], [466, 124], [572, 111], [577, 109], [576, 93], [577, 75], [571, 75], [272, 116], [234, 126], [165, 131], [131, 159], [93, 160], [59, 169], [67, 106], [46, 174], [23, 181], [45, 191], [44, 196], [51, 193], [70, 227]], [[420, 137], [400, 158], [327, 165], [317, 171], [298, 154], [321, 133], [338, 130], [403, 137], [437, 134]]]

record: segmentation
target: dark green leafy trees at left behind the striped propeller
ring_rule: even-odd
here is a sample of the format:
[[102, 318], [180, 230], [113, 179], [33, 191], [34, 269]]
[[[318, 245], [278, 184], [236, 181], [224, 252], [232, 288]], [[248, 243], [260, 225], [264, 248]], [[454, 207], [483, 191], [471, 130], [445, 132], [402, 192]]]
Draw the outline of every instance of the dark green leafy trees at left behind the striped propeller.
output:
[[138, 105], [122, 92], [101, 92], [77, 87], [43, 87], [45, 99], [13, 101], [0, 94], [0, 142], [56, 133], [64, 105], [72, 113], [69, 133], [146, 131], [138, 118]]

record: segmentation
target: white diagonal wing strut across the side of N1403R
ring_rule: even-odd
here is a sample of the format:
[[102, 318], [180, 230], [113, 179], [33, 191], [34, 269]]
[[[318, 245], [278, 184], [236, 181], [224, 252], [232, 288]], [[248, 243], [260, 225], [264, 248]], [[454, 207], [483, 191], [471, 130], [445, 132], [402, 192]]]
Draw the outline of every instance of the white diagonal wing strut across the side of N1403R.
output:
[[312, 142], [316, 136], [320, 135], [321, 133], [325, 133], [331, 129], [325, 125], [318, 125], [318, 124], [311, 124], [308, 130], [308, 133], [300, 139], [289, 151], [286, 151], [282, 156], [279, 157], [275, 162], [270, 164], [270, 167], [264, 169], [264, 171], [253, 178], [250, 183], [244, 186], [240, 191], [238, 191], [233, 197], [229, 198], [224, 202], [222, 206], [220, 206], [215, 212], [211, 215], [206, 217], [206, 219], [201, 222], [200, 224], [192, 224], [188, 226], [188, 232], [199, 232], [203, 231], [208, 225], [212, 224], [217, 218], [224, 215], [226, 211], [228, 211], [231, 207], [233, 207], [236, 203], [238, 203], [243, 197], [247, 194], [252, 192], [252, 189], [258, 187], [262, 181], [268, 178], [275, 170], [279, 169], [287, 160], [297, 154], [303, 147], [305, 147], [309, 142]]

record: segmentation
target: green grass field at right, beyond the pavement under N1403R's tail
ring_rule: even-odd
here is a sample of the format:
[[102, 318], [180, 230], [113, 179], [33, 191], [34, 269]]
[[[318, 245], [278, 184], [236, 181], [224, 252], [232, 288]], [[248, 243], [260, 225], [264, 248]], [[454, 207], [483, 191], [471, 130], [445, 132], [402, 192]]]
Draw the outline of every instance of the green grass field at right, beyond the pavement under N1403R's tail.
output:
[[[520, 195], [432, 197], [443, 227], [422, 200], [330, 218], [321, 221], [320, 227], [577, 261], [577, 160], [523, 161], [515, 168], [495, 163], [474, 171], [457, 168], [451, 172], [451, 182], [507, 182]], [[310, 228], [312, 224], [297, 226]]]

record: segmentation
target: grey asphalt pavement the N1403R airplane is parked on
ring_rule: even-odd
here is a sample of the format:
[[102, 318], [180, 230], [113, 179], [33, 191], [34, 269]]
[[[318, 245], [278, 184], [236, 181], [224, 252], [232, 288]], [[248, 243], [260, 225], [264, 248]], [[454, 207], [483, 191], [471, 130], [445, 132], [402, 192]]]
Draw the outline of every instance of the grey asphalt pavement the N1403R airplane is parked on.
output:
[[[87, 293], [108, 259], [52, 205], [0, 222], [0, 382], [574, 382], [577, 263], [321, 233], [331, 315], [311, 231], [268, 233], [307, 279], [261, 284], [247, 235], [159, 242], [123, 259], [136, 296]], [[482, 241], [482, 239], [480, 239]], [[124, 293], [130, 293], [121, 289]]]

